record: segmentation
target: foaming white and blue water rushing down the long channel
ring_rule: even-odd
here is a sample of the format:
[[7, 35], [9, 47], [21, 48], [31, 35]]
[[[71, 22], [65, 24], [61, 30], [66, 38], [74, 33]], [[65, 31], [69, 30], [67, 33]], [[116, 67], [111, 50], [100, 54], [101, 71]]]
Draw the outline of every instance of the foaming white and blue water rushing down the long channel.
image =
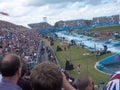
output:
[[84, 35], [78, 35], [78, 34], [69, 34], [67, 32], [58, 32], [56, 33], [57, 36], [61, 39], [68, 40], [70, 42], [71, 40], [74, 40], [76, 44], [84, 44], [85, 48], [88, 48], [89, 50], [103, 50], [103, 45], [107, 45], [108, 51], [111, 51], [113, 53], [119, 53], [120, 52], [120, 41], [116, 40], [104, 40], [101, 41], [100, 39], [95, 39], [92, 37], [87, 37]]

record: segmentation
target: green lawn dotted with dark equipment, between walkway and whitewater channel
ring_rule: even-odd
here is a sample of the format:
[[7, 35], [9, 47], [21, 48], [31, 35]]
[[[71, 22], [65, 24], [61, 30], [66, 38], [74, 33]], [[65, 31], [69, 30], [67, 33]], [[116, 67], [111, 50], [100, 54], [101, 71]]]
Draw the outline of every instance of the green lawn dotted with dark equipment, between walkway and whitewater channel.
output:
[[[78, 46], [71, 46], [71, 52], [68, 49], [66, 51], [62, 50], [62, 51], [56, 52], [56, 47], [57, 47], [57, 45], [61, 45], [61, 42], [62, 42], [61, 40], [54, 41], [53, 49], [57, 55], [60, 65], [64, 69], [65, 69], [66, 59], [68, 59], [68, 60], [71, 59], [70, 61], [74, 65], [74, 70], [67, 71], [71, 76], [73, 76], [75, 79], [77, 79], [79, 77], [79, 74], [77, 73], [77, 65], [80, 64], [81, 65], [80, 75], [89, 74], [92, 77], [95, 84], [99, 84], [103, 81], [105, 83], [108, 82], [108, 80], [110, 78], [109, 75], [99, 72], [94, 67], [97, 62], [94, 53], [91, 53], [87, 49], [82, 49]], [[61, 45], [61, 47], [63, 49], [62, 45]], [[83, 53], [89, 53], [90, 55], [84, 56]], [[108, 57], [111, 54], [109, 53], [109, 54], [100, 56], [99, 60], [101, 60], [105, 57]], [[88, 61], [88, 69], [87, 69], [87, 61]]]

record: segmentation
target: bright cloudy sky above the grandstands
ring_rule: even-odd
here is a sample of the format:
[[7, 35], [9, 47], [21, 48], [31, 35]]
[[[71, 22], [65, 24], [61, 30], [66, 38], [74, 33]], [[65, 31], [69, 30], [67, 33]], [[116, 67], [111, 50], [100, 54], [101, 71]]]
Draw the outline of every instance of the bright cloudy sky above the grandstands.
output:
[[120, 15], [120, 0], [0, 0], [0, 15], [18, 25], [47, 22], [54, 25], [60, 20], [92, 19], [99, 16]]

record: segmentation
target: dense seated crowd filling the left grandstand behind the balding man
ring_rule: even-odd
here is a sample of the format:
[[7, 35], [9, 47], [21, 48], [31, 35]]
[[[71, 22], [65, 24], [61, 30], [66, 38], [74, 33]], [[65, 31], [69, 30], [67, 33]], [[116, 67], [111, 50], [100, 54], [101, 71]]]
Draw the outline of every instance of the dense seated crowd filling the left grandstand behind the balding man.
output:
[[[11, 28], [13, 28], [11, 30]], [[0, 58], [7, 53], [16, 53], [25, 61], [36, 62], [41, 35], [23, 26], [18, 28], [8, 22], [0, 24]]]

